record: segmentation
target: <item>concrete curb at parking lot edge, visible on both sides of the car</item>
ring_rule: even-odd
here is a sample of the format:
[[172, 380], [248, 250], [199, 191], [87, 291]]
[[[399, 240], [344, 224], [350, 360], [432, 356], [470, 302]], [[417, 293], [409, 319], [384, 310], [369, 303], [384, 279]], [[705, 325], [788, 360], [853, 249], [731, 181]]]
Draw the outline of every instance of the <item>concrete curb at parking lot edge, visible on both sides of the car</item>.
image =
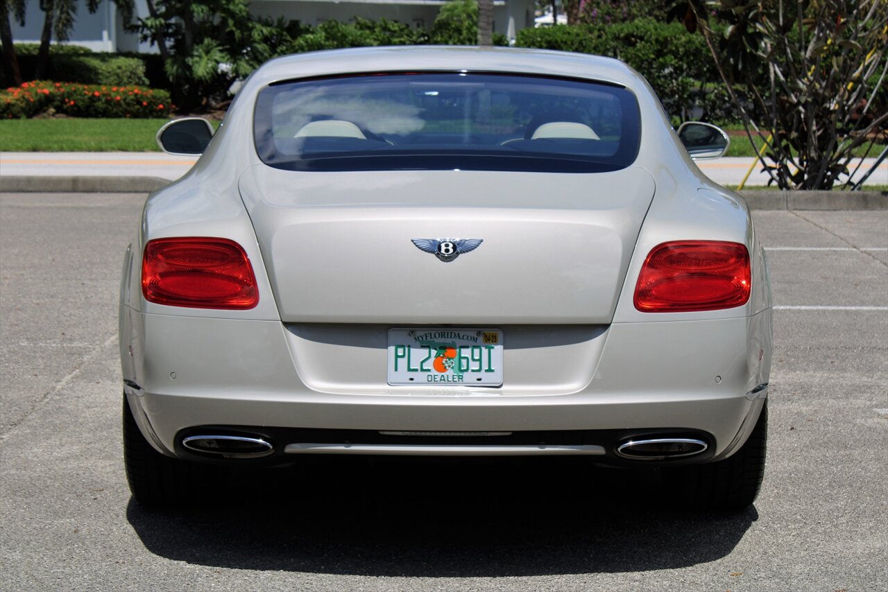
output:
[[[2, 177], [0, 190], [8, 193], [149, 193], [170, 185], [157, 177]], [[888, 209], [888, 192], [878, 191], [768, 191], [740, 194], [749, 209]]]

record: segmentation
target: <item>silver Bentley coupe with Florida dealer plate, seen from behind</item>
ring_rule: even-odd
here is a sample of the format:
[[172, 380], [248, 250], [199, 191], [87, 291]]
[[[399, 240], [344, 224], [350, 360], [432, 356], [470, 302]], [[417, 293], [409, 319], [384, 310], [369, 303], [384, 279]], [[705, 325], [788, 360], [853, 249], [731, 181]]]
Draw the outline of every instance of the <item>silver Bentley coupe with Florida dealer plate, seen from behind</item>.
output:
[[274, 59], [152, 193], [123, 262], [133, 496], [305, 455], [578, 456], [741, 509], [771, 292], [749, 210], [638, 73], [556, 51]]

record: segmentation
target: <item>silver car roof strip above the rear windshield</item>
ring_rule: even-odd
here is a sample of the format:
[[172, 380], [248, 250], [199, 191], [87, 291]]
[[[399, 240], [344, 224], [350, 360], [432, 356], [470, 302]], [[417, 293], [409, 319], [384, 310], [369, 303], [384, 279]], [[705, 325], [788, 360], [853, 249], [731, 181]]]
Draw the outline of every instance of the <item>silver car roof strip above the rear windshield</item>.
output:
[[366, 72], [460, 70], [588, 78], [629, 88], [643, 79], [622, 61], [584, 53], [506, 47], [390, 46], [309, 51], [272, 59], [253, 75], [253, 83]]

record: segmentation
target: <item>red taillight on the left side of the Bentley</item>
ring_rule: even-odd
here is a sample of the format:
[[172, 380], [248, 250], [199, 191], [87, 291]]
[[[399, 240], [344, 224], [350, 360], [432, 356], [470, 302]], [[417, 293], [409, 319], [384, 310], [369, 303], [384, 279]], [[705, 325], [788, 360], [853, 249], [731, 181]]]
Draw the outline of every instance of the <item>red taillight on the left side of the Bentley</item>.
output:
[[242, 310], [259, 302], [256, 277], [241, 245], [228, 239], [155, 239], [142, 258], [142, 293], [168, 306]]

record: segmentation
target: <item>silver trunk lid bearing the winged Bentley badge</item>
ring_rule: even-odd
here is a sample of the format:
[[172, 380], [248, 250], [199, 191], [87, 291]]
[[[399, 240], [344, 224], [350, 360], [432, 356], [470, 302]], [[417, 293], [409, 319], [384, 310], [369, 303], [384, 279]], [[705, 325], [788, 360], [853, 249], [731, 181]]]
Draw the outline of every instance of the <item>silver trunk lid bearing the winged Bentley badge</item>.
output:
[[[653, 179], [635, 167], [556, 174], [257, 165], [240, 187], [281, 320], [485, 327], [609, 323], [654, 196]], [[481, 242], [457, 257], [420, 248], [447, 240], [454, 244], [440, 250]]]

